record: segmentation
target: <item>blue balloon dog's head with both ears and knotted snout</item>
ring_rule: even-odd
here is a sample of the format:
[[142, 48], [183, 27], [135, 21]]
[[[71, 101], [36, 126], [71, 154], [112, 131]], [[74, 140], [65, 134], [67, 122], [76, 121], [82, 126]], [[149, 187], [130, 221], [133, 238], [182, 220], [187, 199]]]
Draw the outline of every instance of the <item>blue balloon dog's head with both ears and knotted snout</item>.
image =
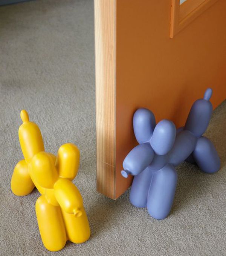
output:
[[163, 119], [156, 125], [153, 113], [148, 109], [137, 109], [133, 116], [133, 129], [139, 143], [123, 161], [122, 176], [142, 172], [156, 155], [166, 155], [173, 147], [176, 127], [172, 121]]

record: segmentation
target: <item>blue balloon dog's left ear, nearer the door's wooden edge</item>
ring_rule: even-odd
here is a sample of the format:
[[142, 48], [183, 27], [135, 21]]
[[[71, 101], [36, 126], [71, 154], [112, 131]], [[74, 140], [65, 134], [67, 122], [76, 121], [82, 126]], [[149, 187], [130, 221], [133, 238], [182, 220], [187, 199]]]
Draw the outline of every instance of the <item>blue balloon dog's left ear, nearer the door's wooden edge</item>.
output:
[[136, 110], [133, 115], [133, 130], [139, 144], [150, 141], [155, 126], [154, 114], [150, 110]]

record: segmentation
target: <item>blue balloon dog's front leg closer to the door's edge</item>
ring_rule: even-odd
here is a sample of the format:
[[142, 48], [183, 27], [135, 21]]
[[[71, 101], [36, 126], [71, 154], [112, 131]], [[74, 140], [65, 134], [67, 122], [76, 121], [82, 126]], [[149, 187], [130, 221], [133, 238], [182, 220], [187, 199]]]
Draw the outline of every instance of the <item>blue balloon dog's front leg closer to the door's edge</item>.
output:
[[148, 190], [153, 171], [147, 167], [143, 172], [134, 176], [130, 190], [130, 202], [136, 207], [147, 207]]

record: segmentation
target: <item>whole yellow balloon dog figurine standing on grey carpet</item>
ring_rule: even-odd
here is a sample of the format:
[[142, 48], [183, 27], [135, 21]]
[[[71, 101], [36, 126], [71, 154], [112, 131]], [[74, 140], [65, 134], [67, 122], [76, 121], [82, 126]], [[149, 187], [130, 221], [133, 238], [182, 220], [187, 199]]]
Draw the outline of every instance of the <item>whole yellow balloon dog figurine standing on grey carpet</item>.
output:
[[90, 227], [82, 196], [72, 180], [78, 173], [79, 150], [64, 144], [57, 156], [44, 152], [43, 138], [37, 124], [29, 121], [26, 110], [18, 133], [24, 159], [15, 166], [11, 189], [17, 196], [26, 196], [37, 187], [41, 196], [35, 209], [44, 246], [61, 250], [66, 241], [79, 244], [90, 237]]

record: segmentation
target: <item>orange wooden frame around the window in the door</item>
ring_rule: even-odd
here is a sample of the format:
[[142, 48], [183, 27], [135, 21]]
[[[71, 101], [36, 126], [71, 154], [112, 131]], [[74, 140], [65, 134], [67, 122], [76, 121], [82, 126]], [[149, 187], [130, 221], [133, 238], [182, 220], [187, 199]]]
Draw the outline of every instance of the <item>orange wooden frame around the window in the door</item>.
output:
[[186, 0], [180, 5], [180, 0], [172, 0], [170, 38], [173, 38], [217, 1], [218, 0]]

